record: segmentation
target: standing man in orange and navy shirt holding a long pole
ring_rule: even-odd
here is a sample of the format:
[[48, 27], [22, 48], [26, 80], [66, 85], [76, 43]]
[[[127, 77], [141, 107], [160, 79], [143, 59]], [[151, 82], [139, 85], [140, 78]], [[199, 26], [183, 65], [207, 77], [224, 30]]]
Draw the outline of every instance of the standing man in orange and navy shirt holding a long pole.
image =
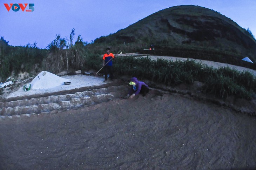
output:
[[105, 66], [105, 64], [107, 63], [107, 65], [104, 67], [104, 74], [105, 74], [105, 80], [108, 80], [108, 73], [109, 73], [109, 78], [110, 80], [114, 79], [113, 76], [113, 69], [112, 69], [112, 59], [114, 59], [115, 56], [114, 54], [110, 53], [110, 48], [106, 48], [106, 54], [103, 55], [103, 66]]

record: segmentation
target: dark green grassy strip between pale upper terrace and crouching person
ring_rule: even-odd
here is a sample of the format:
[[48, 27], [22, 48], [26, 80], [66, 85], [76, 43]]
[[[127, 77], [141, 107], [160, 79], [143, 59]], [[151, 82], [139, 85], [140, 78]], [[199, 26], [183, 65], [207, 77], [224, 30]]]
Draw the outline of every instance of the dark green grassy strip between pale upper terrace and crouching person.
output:
[[[120, 57], [114, 64], [117, 75], [136, 76], [167, 86], [180, 83], [204, 83], [203, 91], [216, 97], [227, 98], [229, 95], [251, 99], [256, 92], [256, 77], [250, 72], [238, 72], [229, 67], [214, 69], [194, 60], [169, 61], [148, 57]], [[123, 64], [125, 63], [125, 64]]]

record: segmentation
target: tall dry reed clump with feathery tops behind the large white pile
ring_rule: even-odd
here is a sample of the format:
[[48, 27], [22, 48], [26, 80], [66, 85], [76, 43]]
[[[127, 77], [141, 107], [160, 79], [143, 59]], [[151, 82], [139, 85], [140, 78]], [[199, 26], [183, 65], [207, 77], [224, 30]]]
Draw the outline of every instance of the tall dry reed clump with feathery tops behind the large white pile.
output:
[[[84, 42], [81, 35], [74, 42], [75, 29], [71, 30], [69, 38], [61, 38], [56, 35], [55, 39], [47, 46], [48, 53], [43, 60], [43, 70], [54, 74], [63, 70], [89, 70], [97, 69], [102, 59], [99, 54], [105, 47], [93, 46], [92, 43]], [[99, 50], [103, 49], [103, 50]]]

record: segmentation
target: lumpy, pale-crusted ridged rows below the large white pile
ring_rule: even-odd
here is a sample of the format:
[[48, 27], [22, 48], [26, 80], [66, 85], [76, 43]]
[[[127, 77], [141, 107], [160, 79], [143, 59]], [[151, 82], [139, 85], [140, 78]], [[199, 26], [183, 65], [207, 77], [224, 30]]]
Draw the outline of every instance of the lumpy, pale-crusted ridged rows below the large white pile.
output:
[[1, 103], [0, 116], [21, 114], [40, 114], [53, 110], [71, 109], [88, 106], [100, 102], [107, 102], [120, 98], [127, 93], [125, 87], [109, 87], [93, 89], [91, 91], [76, 92], [74, 94], [47, 96]]

